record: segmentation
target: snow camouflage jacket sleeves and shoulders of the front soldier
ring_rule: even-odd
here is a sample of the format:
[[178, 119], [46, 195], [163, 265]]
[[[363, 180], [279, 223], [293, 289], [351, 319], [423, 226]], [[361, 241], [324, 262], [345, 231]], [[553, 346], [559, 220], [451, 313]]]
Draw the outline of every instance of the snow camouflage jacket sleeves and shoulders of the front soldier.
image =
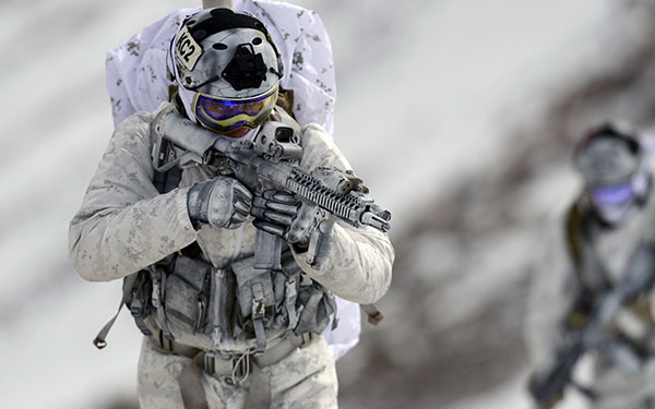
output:
[[[168, 103], [162, 105], [162, 109]], [[254, 252], [255, 228], [250, 217], [235, 230], [209, 225], [194, 230], [187, 210], [187, 192], [210, 172], [192, 167], [182, 172], [179, 188], [159, 194], [153, 184], [151, 136], [153, 113], [138, 112], [116, 129], [82, 206], [70, 225], [70, 257], [82, 277], [108, 281], [135, 273], [196, 241], [216, 268]], [[302, 128], [301, 166], [311, 170], [349, 164], [318, 124]], [[300, 268], [335, 294], [359, 303], [380, 299], [391, 284], [394, 251], [386, 233], [371, 227], [337, 222], [333, 248], [323, 270], [294, 254]]]

